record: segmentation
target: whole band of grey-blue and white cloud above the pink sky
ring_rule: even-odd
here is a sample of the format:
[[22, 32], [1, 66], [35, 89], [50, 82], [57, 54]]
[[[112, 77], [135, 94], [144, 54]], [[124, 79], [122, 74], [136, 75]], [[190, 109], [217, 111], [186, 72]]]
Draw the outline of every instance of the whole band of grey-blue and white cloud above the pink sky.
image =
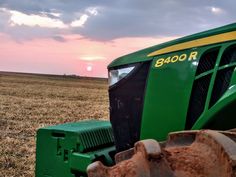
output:
[[35, 38], [51, 37], [53, 31], [99, 41], [183, 36], [235, 22], [235, 5], [235, 0], [1, 0], [0, 32], [15, 38], [19, 26], [25, 26], [30, 34], [45, 29]]

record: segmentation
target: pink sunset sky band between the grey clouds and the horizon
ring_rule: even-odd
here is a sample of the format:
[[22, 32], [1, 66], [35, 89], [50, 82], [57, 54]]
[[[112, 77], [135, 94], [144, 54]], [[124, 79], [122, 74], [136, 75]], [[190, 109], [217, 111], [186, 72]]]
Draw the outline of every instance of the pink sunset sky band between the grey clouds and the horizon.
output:
[[120, 38], [97, 42], [79, 35], [63, 37], [66, 42], [35, 39], [17, 43], [0, 34], [0, 70], [107, 77], [106, 68], [113, 59], [173, 39]]

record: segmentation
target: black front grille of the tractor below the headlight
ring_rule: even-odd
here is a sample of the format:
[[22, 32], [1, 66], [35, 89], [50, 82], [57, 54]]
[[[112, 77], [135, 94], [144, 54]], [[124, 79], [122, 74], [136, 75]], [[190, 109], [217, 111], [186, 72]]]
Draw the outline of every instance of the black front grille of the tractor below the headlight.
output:
[[109, 89], [110, 120], [117, 152], [133, 147], [140, 138], [149, 66], [150, 62], [142, 63], [125, 80]]

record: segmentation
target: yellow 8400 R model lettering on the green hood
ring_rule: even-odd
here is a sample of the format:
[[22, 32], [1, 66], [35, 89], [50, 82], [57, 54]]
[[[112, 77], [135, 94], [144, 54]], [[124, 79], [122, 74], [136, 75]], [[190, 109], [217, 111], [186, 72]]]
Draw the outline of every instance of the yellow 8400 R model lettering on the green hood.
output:
[[158, 68], [169, 63], [182, 62], [185, 60], [188, 60], [188, 61], [196, 60], [197, 55], [198, 55], [198, 52], [194, 51], [194, 52], [191, 52], [189, 55], [183, 53], [181, 55], [173, 55], [167, 58], [160, 58], [156, 61], [155, 67]]

